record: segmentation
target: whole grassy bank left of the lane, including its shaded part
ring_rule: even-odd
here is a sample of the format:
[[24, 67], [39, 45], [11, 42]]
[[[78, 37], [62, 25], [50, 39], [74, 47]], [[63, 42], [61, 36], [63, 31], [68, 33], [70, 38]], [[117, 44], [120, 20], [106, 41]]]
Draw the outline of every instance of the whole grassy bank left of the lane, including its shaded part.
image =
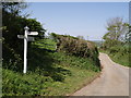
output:
[[55, 41], [38, 40], [28, 48], [27, 74], [22, 70], [2, 69], [2, 95], [66, 96], [92, 82], [99, 73], [99, 66], [92, 59], [56, 52]]

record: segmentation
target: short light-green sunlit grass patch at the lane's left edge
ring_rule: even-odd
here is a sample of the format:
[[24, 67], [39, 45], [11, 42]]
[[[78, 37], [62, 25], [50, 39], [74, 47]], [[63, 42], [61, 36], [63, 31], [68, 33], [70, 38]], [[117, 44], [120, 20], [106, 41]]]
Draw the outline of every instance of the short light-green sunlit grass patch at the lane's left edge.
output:
[[99, 75], [99, 73], [97, 72], [82, 70], [78, 68], [68, 68], [68, 70], [71, 71], [72, 75], [67, 76], [64, 82], [55, 82], [52, 86], [49, 87], [50, 96], [71, 95], [91, 83]]

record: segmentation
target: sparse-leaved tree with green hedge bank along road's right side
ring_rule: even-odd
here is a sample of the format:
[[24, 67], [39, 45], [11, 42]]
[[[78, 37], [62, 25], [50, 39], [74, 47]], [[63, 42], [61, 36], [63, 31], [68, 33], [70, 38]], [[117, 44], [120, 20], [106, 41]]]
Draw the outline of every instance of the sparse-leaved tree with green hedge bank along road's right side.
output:
[[107, 22], [107, 34], [104, 35], [104, 44], [100, 48], [103, 52], [117, 63], [126, 66], [131, 66], [130, 58], [130, 42], [131, 42], [131, 26], [123, 22], [121, 17], [110, 19]]

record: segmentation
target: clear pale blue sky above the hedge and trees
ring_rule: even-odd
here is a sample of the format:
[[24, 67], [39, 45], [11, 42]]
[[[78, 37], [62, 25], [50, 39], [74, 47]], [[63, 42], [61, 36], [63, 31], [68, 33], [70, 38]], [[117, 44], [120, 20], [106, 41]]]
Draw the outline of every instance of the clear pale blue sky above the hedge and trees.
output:
[[129, 21], [128, 2], [29, 2], [25, 12], [37, 19], [47, 33], [84, 36], [102, 40], [106, 21], [123, 17]]

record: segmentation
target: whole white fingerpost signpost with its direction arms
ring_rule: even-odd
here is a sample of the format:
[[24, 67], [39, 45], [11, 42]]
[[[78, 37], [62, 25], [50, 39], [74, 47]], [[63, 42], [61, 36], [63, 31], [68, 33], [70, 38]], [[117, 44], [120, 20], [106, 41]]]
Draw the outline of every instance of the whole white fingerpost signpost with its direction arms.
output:
[[38, 35], [37, 32], [28, 32], [28, 27], [24, 27], [24, 35], [17, 35], [20, 39], [24, 39], [24, 70], [23, 73], [27, 72], [27, 41], [34, 41], [34, 37], [28, 37], [29, 35]]

